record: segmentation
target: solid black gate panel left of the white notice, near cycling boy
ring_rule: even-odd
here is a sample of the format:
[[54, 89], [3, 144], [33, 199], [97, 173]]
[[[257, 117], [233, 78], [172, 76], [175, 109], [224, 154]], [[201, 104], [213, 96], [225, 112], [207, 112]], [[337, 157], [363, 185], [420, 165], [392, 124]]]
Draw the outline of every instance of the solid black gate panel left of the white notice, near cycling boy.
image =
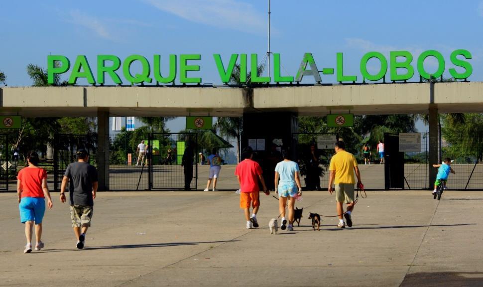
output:
[[397, 134], [384, 134], [384, 188], [404, 188], [404, 152], [399, 152]]

